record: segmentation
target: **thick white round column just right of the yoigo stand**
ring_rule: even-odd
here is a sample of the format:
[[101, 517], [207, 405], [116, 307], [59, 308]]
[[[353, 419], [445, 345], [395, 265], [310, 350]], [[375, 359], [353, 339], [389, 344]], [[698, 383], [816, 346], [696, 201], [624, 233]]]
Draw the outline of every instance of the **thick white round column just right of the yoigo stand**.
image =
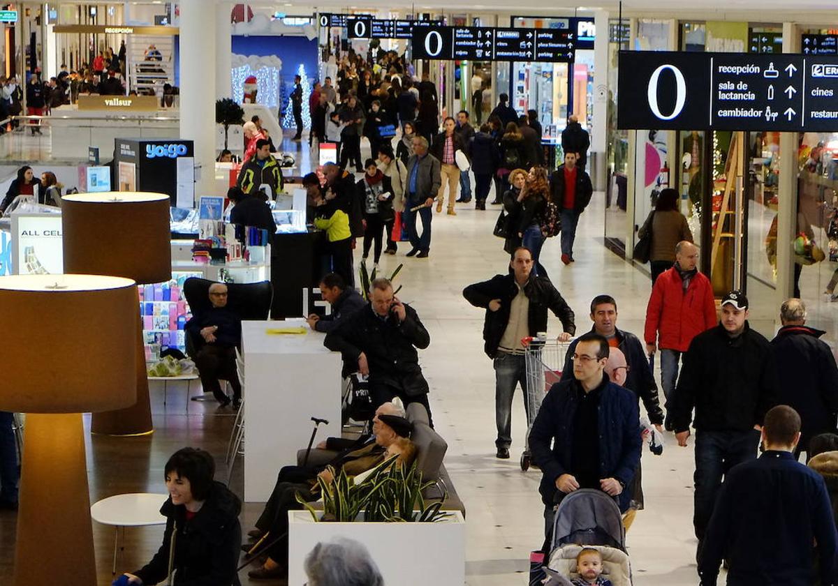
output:
[[180, 137], [195, 143], [195, 198], [215, 184], [215, 9], [180, 2]]

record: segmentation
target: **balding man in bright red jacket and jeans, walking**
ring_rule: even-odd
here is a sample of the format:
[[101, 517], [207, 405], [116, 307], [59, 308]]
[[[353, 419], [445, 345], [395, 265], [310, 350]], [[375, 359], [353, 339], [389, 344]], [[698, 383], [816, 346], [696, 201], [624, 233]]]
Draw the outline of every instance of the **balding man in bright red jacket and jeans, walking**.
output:
[[652, 287], [646, 306], [644, 337], [649, 356], [660, 347], [660, 383], [666, 399], [664, 426], [672, 430], [669, 402], [678, 380], [678, 362], [692, 338], [716, 326], [716, 301], [710, 280], [696, 269], [698, 247], [682, 240], [675, 246], [675, 265]]

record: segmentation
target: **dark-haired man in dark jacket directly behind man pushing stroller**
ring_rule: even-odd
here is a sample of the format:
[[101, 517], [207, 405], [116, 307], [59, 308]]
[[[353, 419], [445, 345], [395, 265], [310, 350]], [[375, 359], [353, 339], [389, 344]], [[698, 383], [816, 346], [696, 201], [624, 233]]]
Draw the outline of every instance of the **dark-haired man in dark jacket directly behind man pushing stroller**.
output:
[[[658, 431], [663, 431], [661, 424], [664, 423], [664, 412], [660, 409], [658, 400], [658, 385], [654, 383], [652, 368], [649, 360], [646, 359], [643, 345], [637, 336], [631, 332], [625, 332], [617, 327], [617, 301], [610, 295], [597, 295], [591, 301], [591, 321], [593, 327], [591, 332], [596, 332], [608, 340], [608, 346], [619, 348], [625, 355], [624, 360], [628, 362], [625, 373], [624, 384], [618, 383], [621, 387], [628, 388], [636, 394], [638, 399], [643, 399], [646, 413], [649, 414], [649, 421], [654, 424]], [[573, 352], [576, 352], [578, 341], [571, 342], [567, 348], [565, 368], [561, 371], [561, 380], [568, 380], [573, 376]]]

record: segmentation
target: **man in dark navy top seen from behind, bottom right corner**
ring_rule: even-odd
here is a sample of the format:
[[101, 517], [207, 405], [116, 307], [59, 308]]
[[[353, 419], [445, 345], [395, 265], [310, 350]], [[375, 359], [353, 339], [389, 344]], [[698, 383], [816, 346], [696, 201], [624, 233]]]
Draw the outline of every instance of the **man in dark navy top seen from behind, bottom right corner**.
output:
[[835, 584], [838, 536], [824, 479], [794, 457], [799, 415], [788, 405], [769, 410], [762, 439], [763, 455], [726, 475], [698, 559], [701, 586], [716, 586], [722, 558], [728, 586]]

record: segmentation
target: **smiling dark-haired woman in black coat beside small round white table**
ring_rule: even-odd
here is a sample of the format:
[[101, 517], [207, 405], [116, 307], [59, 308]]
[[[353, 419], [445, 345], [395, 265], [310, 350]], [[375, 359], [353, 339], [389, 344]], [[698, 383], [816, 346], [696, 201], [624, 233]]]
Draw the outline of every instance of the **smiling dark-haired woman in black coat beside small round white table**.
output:
[[175, 533], [174, 583], [239, 586], [236, 564], [241, 553], [241, 501], [213, 481], [215, 462], [204, 450], [184, 448], [165, 467], [169, 498], [160, 513], [166, 517], [163, 545], [152, 561], [134, 573], [129, 584], [151, 586], [168, 577], [168, 560]]

